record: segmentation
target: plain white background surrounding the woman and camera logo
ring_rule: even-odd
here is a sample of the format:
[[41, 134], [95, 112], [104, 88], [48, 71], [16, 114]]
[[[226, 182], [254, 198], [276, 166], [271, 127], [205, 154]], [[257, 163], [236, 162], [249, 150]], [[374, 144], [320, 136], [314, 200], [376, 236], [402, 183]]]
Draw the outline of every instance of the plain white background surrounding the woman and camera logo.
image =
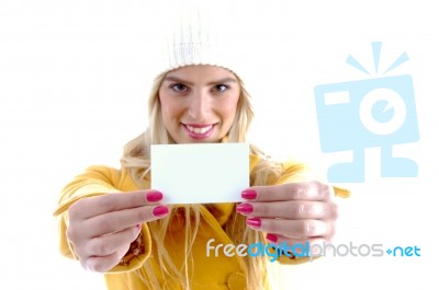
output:
[[[395, 152], [415, 160], [419, 176], [381, 178], [380, 151], [368, 150], [365, 183], [345, 185], [353, 194], [340, 200], [336, 240], [417, 245], [421, 257], [283, 267], [280, 289], [438, 289], [434, 1], [289, 2], [244, 5], [243, 24], [257, 31], [247, 76], [258, 116], [252, 141], [324, 174], [347, 156], [319, 149], [314, 86], [370, 78], [345, 60], [352, 54], [372, 69], [373, 40], [383, 42], [383, 66], [406, 51], [410, 60], [390, 74], [413, 76], [420, 141]], [[75, 174], [119, 166], [124, 143], [146, 127], [158, 9], [168, 11], [133, 0], [0, 1], [1, 289], [103, 289], [99, 275], [58, 254], [52, 212]]]

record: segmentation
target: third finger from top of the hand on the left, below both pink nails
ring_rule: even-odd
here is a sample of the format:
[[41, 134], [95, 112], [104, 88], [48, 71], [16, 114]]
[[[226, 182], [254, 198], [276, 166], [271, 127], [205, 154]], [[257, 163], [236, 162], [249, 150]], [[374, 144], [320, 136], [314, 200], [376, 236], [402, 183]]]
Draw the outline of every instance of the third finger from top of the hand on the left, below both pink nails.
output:
[[83, 256], [111, 255], [124, 245], [130, 245], [133, 241], [135, 241], [139, 232], [140, 228], [135, 225], [113, 234], [93, 237], [85, 247], [86, 253], [83, 253]]

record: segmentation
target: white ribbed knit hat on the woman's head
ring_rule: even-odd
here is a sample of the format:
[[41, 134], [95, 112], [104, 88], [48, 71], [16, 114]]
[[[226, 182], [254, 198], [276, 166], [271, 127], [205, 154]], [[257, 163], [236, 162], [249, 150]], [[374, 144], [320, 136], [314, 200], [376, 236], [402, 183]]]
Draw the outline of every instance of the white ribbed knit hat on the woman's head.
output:
[[159, 73], [191, 65], [218, 66], [236, 74], [241, 72], [244, 47], [239, 42], [239, 24], [227, 3], [215, 2], [176, 2], [176, 13], [165, 35], [164, 67]]

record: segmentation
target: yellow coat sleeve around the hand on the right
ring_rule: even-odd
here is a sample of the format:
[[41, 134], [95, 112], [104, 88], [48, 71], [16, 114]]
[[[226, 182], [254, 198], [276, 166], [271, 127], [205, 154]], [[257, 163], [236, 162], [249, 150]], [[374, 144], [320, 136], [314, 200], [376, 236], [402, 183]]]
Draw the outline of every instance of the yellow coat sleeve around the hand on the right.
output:
[[[295, 182], [306, 182], [306, 181], [313, 181], [316, 178], [312, 177], [313, 175], [311, 174], [311, 171], [308, 167], [306, 167], [302, 163], [295, 163], [295, 162], [286, 162], [283, 165], [283, 173], [280, 176], [280, 178], [275, 182], [277, 185], [279, 184], [285, 184], [285, 183], [295, 183]], [[336, 197], [342, 197], [342, 198], [348, 198], [350, 196], [350, 190], [338, 187], [338, 186], [333, 186], [334, 193]], [[313, 257], [313, 259], [318, 258], [318, 257]], [[296, 257], [294, 255], [288, 256], [288, 255], [280, 255], [278, 257], [278, 262], [280, 264], [289, 264], [289, 265], [296, 265], [296, 264], [303, 264], [309, 260], [309, 257], [304, 256], [304, 257]]]

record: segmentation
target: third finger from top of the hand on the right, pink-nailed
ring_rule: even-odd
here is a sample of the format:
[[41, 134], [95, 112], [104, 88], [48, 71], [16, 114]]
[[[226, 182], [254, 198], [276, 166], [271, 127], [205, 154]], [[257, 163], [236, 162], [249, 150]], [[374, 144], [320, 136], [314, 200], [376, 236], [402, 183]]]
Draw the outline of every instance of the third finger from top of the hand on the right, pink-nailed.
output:
[[334, 232], [331, 222], [322, 220], [283, 220], [248, 218], [247, 225], [254, 230], [282, 234], [292, 239], [330, 236]]

